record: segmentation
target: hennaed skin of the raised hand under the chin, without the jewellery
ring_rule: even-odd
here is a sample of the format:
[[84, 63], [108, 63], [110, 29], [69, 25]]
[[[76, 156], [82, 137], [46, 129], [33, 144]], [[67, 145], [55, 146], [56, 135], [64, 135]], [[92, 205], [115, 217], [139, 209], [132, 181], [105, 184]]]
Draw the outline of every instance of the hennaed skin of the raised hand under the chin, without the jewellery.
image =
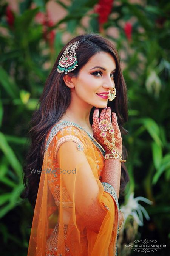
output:
[[[112, 121], [111, 121], [112, 117]], [[110, 128], [114, 129], [114, 133], [111, 134], [109, 131], [106, 131], [106, 137], [102, 137], [101, 133], [102, 131], [99, 128], [99, 122], [106, 119], [110, 123]], [[109, 130], [110, 130], [109, 128]], [[117, 123], [117, 116], [115, 112], [112, 112], [111, 115], [111, 108], [104, 108], [102, 109], [100, 113], [100, 118], [99, 118], [99, 108], [95, 108], [94, 113], [93, 113], [93, 124], [92, 124], [92, 129], [93, 129], [93, 137], [100, 143], [100, 145], [104, 148], [106, 154], [112, 154], [111, 149], [108, 149], [107, 145], [104, 143], [105, 140], [107, 139], [110, 143], [112, 143], [112, 138], [114, 136], [115, 140], [115, 146], [117, 153], [122, 155], [122, 137], [121, 137], [121, 132]]]

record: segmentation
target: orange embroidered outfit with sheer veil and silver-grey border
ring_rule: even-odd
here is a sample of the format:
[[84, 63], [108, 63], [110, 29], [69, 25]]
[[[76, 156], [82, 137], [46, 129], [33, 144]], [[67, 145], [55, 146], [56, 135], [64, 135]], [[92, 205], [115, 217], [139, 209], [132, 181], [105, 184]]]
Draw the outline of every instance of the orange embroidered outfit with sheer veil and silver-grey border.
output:
[[73, 122], [60, 120], [51, 128], [28, 256], [117, 255], [119, 204], [116, 193], [104, 191], [101, 182], [104, 154], [101, 145]]

